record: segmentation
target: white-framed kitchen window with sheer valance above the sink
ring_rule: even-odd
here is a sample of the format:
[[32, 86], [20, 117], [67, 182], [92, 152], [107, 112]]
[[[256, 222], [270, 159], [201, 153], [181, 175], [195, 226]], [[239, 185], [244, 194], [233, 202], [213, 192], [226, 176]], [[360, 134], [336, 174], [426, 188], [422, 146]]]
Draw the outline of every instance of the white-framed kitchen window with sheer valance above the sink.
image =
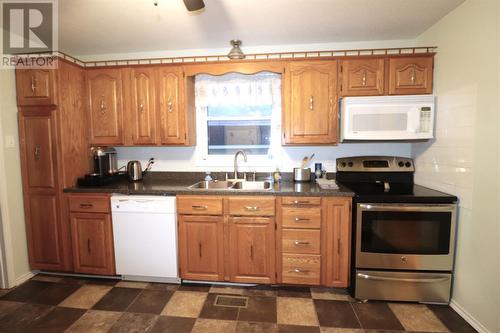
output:
[[201, 74], [195, 94], [199, 165], [230, 166], [238, 150], [250, 166], [272, 164], [281, 133], [280, 74]]

